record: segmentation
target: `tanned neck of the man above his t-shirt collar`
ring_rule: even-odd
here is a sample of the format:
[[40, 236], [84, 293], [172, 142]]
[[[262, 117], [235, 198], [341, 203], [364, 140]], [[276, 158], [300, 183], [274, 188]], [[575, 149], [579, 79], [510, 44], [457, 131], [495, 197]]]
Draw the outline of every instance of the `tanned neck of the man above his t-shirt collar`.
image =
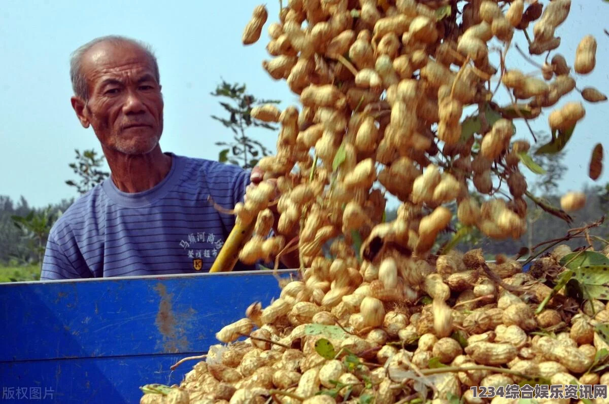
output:
[[157, 186], [171, 170], [172, 158], [157, 147], [146, 155], [125, 155], [104, 150], [110, 166], [111, 178], [122, 192], [144, 192]]

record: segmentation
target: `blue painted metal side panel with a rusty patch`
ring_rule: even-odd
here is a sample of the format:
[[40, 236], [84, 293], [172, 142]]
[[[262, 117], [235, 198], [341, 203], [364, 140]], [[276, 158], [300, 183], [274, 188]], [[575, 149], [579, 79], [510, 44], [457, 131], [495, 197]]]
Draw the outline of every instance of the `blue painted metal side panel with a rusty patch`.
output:
[[40, 388], [45, 403], [138, 403], [139, 386], [179, 383], [196, 362], [172, 364], [279, 294], [268, 271], [2, 284], [0, 402]]

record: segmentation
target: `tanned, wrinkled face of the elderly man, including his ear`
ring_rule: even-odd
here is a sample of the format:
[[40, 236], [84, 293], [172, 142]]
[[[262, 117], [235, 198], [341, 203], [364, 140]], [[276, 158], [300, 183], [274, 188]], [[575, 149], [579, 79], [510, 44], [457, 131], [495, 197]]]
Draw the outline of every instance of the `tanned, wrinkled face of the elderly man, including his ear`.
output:
[[163, 132], [163, 96], [152, 60], [130, 44], [99, 43], [83, 55], [89, 99], [72, 97], [83, 127], [107, 150], [143, 155]]

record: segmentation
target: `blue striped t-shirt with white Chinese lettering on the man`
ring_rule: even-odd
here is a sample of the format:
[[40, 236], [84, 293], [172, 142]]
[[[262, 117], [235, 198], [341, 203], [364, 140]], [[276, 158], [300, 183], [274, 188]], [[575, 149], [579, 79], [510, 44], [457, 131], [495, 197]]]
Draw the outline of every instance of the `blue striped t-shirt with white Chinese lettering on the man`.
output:
[[[233, 229], [217, 211], [243, 201], [250, 172], [172, 156], [160, 184], [121, 192], [111, 178], [70, 206], [49, 234], [40, 279], [207, 272]], [[250, 269], [237, 263], [234, 270]]]

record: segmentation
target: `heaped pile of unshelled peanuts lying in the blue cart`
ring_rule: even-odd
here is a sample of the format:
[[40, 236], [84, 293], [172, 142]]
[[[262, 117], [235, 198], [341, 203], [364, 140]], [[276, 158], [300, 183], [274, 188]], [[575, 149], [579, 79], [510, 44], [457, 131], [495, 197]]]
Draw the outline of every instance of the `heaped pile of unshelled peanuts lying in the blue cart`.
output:
[[[568, 246], [558, 246], [531, 271], [559, 270], [558, 260], [569, 252]], [[609, 256], [609, 248], [603, 253]], [[498, 391], [522, 381], [533, 387], [609, 384], [609, 372], [591, 371], [597, 352], [609, 349], [594, 328], [609, 321], [609, 306], [596, 299], [576, 302], [563, 289], [536, 315], [552, 289], [523, 272], [518, 261], [497, 258], [487, 263], [493, 276], [479, 266], [477, 250], [451, 251], [433, 266], [421, 263], [409, 281], [417, 277], [431, 302], [401, 294], [398, 284], [406, 278], [387, 262], [375, 273], [366, 271], [359, 287], [349, 287], [340, 298], [328, 291], [322, 301], [307, 299], [312, 279], [324, 282], [325, 290], [343, 279], [330, 281], [333, 273], [344, 271], [342, 260], [320, 263], [326, 266], [314, 266], [303, 280], [287, 284], [268, 307], [254, 303], [245, 318], [222, 328], [216, 338], [228, 345], [211, 347], [206, 361], [195, 364], [180, 386], [167, 395], [146, 394], [141, 403], [389, 404], [420, 397], [448, 404], [451, 397], [462, 397], [467, 404], [516, 404], [518, 399], [474, 397], [471, 388]], [[311, 325], [335, 332], [311, 332]], [[250, 338], [237, 341], [241, 335]], [[336, 356], [322, 356], [320, 340], [329, 341]], [[347, 352], [355, 355], [357, 366], [350, 367]], [[426, 392], [417, 381], [427, 383]]]

